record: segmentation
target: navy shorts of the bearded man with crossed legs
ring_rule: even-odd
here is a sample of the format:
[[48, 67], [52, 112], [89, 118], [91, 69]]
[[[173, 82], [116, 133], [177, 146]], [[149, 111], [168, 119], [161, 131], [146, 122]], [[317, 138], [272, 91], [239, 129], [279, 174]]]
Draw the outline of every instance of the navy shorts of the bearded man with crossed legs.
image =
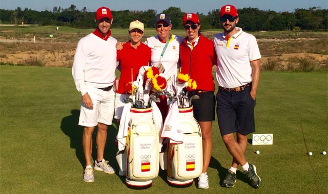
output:
[[241, 91], [219, 88], [216, 93], [216, 114], [221, 135], [238, 132], [247, 135], [255, 132], [254, 107], [251, 87]]

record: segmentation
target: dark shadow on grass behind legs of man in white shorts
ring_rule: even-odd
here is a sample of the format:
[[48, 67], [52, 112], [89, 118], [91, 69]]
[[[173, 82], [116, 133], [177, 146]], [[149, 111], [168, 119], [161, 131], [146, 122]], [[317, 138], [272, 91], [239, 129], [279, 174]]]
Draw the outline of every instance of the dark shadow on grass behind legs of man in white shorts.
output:
[[[61, 119], [60, 129], [65, 133], [65, 135], [70, 137], [71, 143], [70, 148], [75, 149], [75, 155], [78, 161], [81, 163], [82, 168], [85, 168], [85, 157], [83, 151], [83, 144], [82, 144], [82, 136], [83, 136], [83, 126], [78, 125], [78, 118], [80, 111], [79, 110], [71, 110], [71, 115], [64, 117]], [[115, 124], [115, 120], [113, 119], [113, 123]], [[118, 125], [117, 125], [118, 126]], [[97, 128], [95, 128], [93, 135], [92, 135], [92, 158], [95, 161], [97, 158], [97, 147], [96, 147], [96, 134]], [[117, 150], [115, 144], [115, 138], [117, 134], [117, 129], [111, 125], [108, 126], [107, 132], [107, 141], [105, 147], [104, 158], [109, 160], [109, 164], [117, 169], [118, 175], [118, 165], [115, 159], [115, 153]]]

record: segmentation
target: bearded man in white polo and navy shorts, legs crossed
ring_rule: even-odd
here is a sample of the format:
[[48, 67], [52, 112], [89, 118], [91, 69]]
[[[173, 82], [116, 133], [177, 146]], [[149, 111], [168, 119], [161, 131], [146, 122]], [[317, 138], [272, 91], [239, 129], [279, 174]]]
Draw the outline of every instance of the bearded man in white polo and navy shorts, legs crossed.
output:
[[244, 154], [248, 144], [247, 135], [255, 132], [254, 107], [261, 55], [256, 38], [236, 27], [238, 21], [236, 8], [232, 5], [223, 6], [220, 9], [220, 23], [224, 32], [216, 34], [213, 39], [219, 84], [216, 112], [222, 140], [233, 156], [222, 186], [234, 186], [240, 164], [249, 184], [258, 188], [261, 179], [256, 174], [255, 165], [248, 163]]

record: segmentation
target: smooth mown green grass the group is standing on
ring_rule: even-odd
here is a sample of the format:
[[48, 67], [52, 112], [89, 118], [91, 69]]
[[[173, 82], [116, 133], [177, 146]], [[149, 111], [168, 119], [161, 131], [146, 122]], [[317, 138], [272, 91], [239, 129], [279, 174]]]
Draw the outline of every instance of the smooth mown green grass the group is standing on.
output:
[[[272, 146], [249, 144], [247, 159], [261, 177], [253, 189], [239, 171], [234, 188], [218, 185], [231, 156], [213, 122], [210, 188], [173, 188], [160, 172], [151, 188], [127, 188], [118, 174], [95, 172], [84, 183], [80, 94], [70, 68], [0, 66], [1, 193], [327, 193], [327, 74], [262, 72], [256, 102], [256, 133], [273, 133]], [[303, 134], [305, 143], [303, 140]], [[105, 157], [114, 153], [117, 125], [109, 127]], [[251, 136], [249, 137], [251, 138]], [[254, 152], [260, 150], [260, 154]], [[306, 155], [312, 151], [313, 156]], [[95, 152], [93, 152], [95, 153]], [[95, 157], [95, 155], [93, 155]]]

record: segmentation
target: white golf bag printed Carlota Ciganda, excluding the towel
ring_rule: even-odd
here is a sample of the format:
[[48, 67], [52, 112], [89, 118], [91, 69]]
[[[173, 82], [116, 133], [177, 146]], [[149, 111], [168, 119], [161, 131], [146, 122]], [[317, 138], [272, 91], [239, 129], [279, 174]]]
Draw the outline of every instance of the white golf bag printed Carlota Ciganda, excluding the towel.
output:
[[[202, 138], [193, 107], [179, 108], [183, 143], [169, 140], [167, 152], [167, 180], [173, 185], [189, 185], [202, 172]], [[165, 127], [165, 126], [164, 126]]]

